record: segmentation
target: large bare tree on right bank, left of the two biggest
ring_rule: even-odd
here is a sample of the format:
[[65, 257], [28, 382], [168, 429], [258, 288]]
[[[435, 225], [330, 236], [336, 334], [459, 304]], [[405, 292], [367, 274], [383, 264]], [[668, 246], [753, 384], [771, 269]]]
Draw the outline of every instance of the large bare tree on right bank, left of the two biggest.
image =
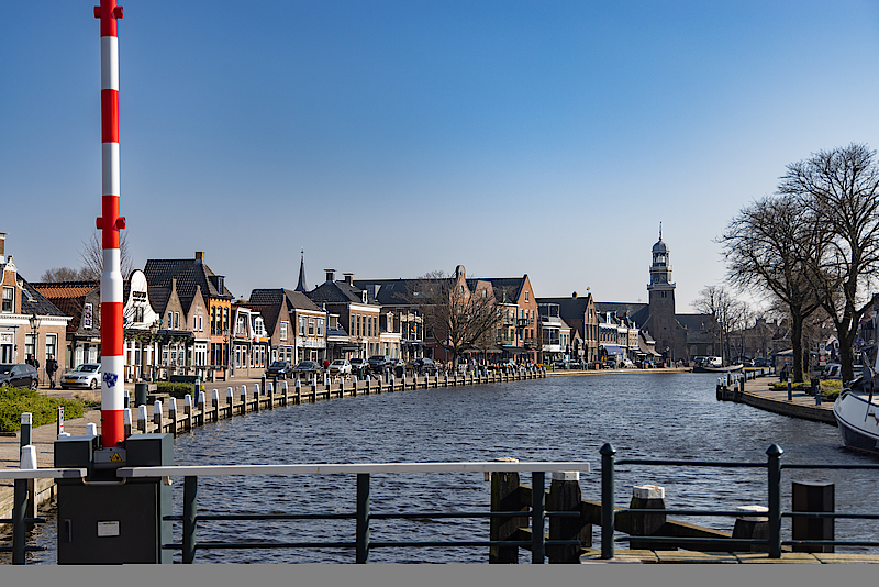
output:
[[811, 217], [793, 197], [764, 198], [739, 211], [719, 239], [731, 281], [776, 298], [790, 314], [797, 381], [803, 378], [803, 323], [821, 306], [808, 273], [824, 237]]

